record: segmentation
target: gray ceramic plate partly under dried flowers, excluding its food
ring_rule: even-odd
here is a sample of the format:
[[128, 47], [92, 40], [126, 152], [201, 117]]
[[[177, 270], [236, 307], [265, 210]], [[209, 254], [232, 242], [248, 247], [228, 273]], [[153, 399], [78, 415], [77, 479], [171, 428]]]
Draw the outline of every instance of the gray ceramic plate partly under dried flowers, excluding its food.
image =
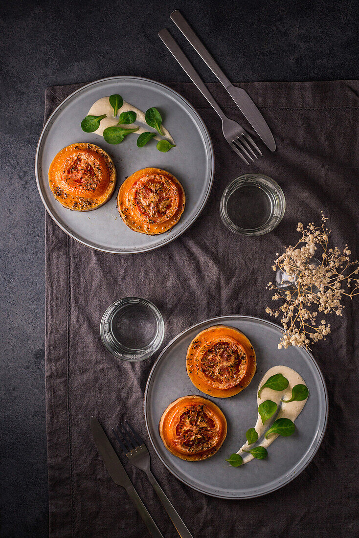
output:
[[[222, 323], [237, 327], [248, 336], [257, 355], [257, 373], [249, 387], [232, 398], [211, 398], [222, 409], [228, 434], [221, 449], [201, 462], [186, 462], [168, 452], [159, 436], [160, 417], [173, 400], [187, 394], [202, 394], [186, 372], [189, 343], [198, 332]], [[159, 458], [173, 475], [193, 489], [224, 499], [244, 499], [265, 495], [284, 486], [305, 469], [318, 450], [328, 416], [325, 381], [313, 357], [299, 348], [278, 349], [280, 328], [274, 323], [249, 316], [220, 316], [182, 332], [161, 352], [154, 364], [145, 391], [145, 420], [150, 440]], [[291, 437], [278, 437], [265, 460], [234, 468], [224, 461], [245, 442], [245, 432], [256, 423], [256, 394], [263, 374], [283, 364], [296, 370], [309, 388], [308, 401], [295, 421]], [[203, 395], [203, 394], [202, 394]], [[206, 398], [208, 396], [204, 394]]]

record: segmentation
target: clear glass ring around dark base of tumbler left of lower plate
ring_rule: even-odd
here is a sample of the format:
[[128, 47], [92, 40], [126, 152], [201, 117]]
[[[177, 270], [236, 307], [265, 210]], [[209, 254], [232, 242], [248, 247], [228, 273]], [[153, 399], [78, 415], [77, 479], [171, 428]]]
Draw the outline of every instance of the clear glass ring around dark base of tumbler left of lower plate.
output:
[[[118, 340], [114, 338], [114, 336], [111, 334], [111, 331], [108, 329], [114, 315], [119, 310], [130, 305], [145, 306], [146, 308], [151, 310], [152, 314], [156, 318], [156, 335], [153, 337], [151, 344], [146, 347], [137, 349], [128, 348], [128, 346], [125, 346], [124, 344], [121, 344], [121, 342], [118, 342]], [[140, 360], [145, 360], [152, 357], [152, 355], [154, 355], [154, 353], [159, 350], [165, 336], [165, 323], [159, 309], [148, 299], [144, 299], [141, 297], [124, 297], [113, 302], [110, 306], [107, 307], [107, 309], [103, 313], [100, 322], [100, 336], [103, 345], [112, 355], [128, 362], [139, 362]]]

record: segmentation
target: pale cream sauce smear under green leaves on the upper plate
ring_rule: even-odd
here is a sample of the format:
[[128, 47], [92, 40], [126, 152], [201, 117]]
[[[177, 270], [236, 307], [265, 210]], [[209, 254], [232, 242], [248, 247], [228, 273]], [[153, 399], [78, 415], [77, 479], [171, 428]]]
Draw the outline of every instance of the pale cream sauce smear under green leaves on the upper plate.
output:
[[[95, 131], [96, 134], [99, 134], [100, 136], [103, 136], [103, 131], [107, 127], [112, 127], [113, 125], [117, 125], [118, 123], [118, 117], [122, 112], [129, 112], [130, 110], [133, 110], [133, 112], [136, 112], [137, 114], [137, 121], [139, 123], [144, 123], [146, 125], [146, 119], [145, 119], [145, 113], [142, 110], [139, 110], [137, 107], [133, 107], [132, 104], [126, 103], [126, 101], [123, 102], [123, 105], [120, 109], [117, 110], [117, 115], [114, 117], [114, 109], [111, 107], [109, 98], [108, 97], [101, 97], [98, 101], [96, 101], [90, 110], [87, 112], [87, 115], [90, 116], [103, 116], [103, 114], [106, 114], [106, 117], [101, 119], [100, 127]], [[157, 132], [155, 129], [152, 129], [149, 125], [146, 126], [144, 129], [143, 127], [137, 125], [137, 123], [131, 123], [129, 125], [121, 125], [123, 129], [135, 129], [136, 127], [139, 127], [138, 131], [134, 132], [133, 134], [141, 134], [147, 131], [150, 132]], [[164, 125], [161, 125], [161, 131], [163, 133], [163, 136], [166, 140], [171, 142], [171, 144], [174, 144], [174, 140], [170, 134], [170, 132], [167, 131]], [[155, 140], [162, 140], [160, 136], [155, 136]]]

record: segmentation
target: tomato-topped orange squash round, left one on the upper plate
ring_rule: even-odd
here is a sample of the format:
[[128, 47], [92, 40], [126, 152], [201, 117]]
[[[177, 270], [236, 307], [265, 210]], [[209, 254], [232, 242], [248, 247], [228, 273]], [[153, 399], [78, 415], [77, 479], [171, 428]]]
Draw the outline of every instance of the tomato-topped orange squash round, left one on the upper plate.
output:
[[85, 142], [64, 147], [48, 169], [55, 199], [74, 211], [91, 211], [114, 193], [116, 168], [101, 147]]

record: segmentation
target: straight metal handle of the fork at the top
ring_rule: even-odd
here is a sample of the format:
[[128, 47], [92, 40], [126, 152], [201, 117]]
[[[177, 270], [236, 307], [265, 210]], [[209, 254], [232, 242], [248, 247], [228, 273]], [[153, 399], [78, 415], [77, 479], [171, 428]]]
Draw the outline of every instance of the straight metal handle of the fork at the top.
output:
[[226, 116], [224, 116], [220, 108], [220, 105], [217, 103], [213, 95], [210, 93], [206, 84], [202, 81], [201, 77], [196, 72], [192, 63], [188, 60], [187, 56], [180, 48], [177, 41], [175, 41], [174, 38], [171, 36], [170, 32], [168, 32], [168, 30], [164, 28], [163, 30], [160, 30], [158, 32], [158, 36], [164, 42], [164, 44], [166, 45], [166, 47], [168, 48], [172, 56], [178, 61], [179, 65], [182, 67], [184, 72], [189, 76], [192, 82], [200, 90], [203, 97], [205, 97], [208, 103], [211, 105], [211, 107], [214, 108], [214, 110], [217, 112], [217, 114], [222, 119], [222, 121], [223, 119], [226, 119]]

